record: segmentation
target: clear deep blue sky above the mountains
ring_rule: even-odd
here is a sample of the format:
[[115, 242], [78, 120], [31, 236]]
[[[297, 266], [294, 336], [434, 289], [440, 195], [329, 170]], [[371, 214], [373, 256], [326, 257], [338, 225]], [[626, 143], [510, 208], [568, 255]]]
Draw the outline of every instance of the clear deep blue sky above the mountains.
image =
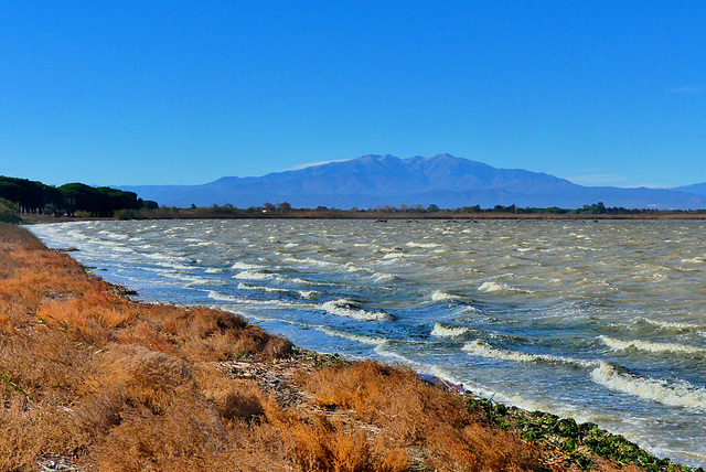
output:
[[195, 184], [368, 153], [706, 182], [706, 2], [0, 6], [0, 174]]

